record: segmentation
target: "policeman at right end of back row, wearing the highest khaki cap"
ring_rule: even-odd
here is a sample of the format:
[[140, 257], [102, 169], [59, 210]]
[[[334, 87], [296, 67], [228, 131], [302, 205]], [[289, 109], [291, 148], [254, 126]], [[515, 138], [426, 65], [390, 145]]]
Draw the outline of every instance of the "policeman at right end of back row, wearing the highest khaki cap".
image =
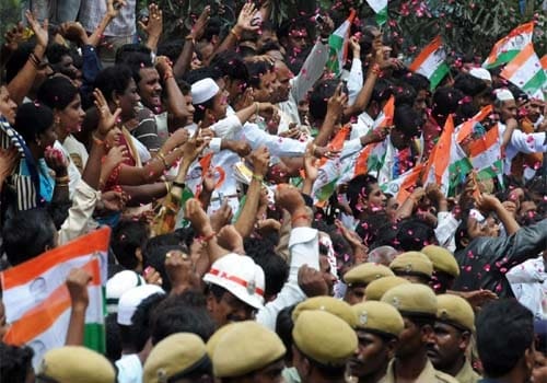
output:
[[452, 289], [454, 280], [459, 276], [459, 265], [454, 254], [444, 247], [428, 245], [421, 249], [421, 253], [433, 264], [432, 288], [435, 293], [443, 294]]

